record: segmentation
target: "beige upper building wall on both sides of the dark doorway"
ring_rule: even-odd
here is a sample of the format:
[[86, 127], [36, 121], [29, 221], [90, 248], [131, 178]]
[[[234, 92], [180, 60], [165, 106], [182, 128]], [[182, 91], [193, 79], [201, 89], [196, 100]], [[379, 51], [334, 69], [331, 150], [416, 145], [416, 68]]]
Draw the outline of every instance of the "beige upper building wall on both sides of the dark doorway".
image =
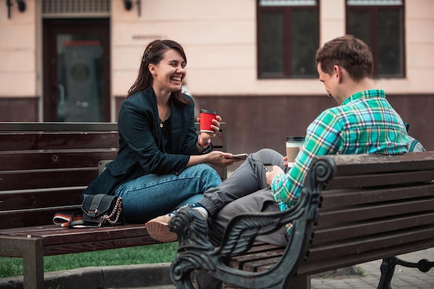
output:
[[[7, 17], [6, 0], [0, 0], [0, 98], [39, 97], [40, 1], [26, 0], [26, 12], [17, 4]], [[164, 2], [164, 4], [163, 4]], [[137, 76], [144, 48], [155, 38], [180, 42], [188, 58], [189, 91], [206, 96], [323, 95], [318, 80], [258, 80], [256, 0], [141, 0], [123, 8], [112, 0], [111, 92], [124, 96]], [[379, 79], [388, 94], [434, 92], [433, 0], [406, 1], [406, 73], [404, 79]], [[320, 43], [345, 33], [345, 0], [320, 0]]]

